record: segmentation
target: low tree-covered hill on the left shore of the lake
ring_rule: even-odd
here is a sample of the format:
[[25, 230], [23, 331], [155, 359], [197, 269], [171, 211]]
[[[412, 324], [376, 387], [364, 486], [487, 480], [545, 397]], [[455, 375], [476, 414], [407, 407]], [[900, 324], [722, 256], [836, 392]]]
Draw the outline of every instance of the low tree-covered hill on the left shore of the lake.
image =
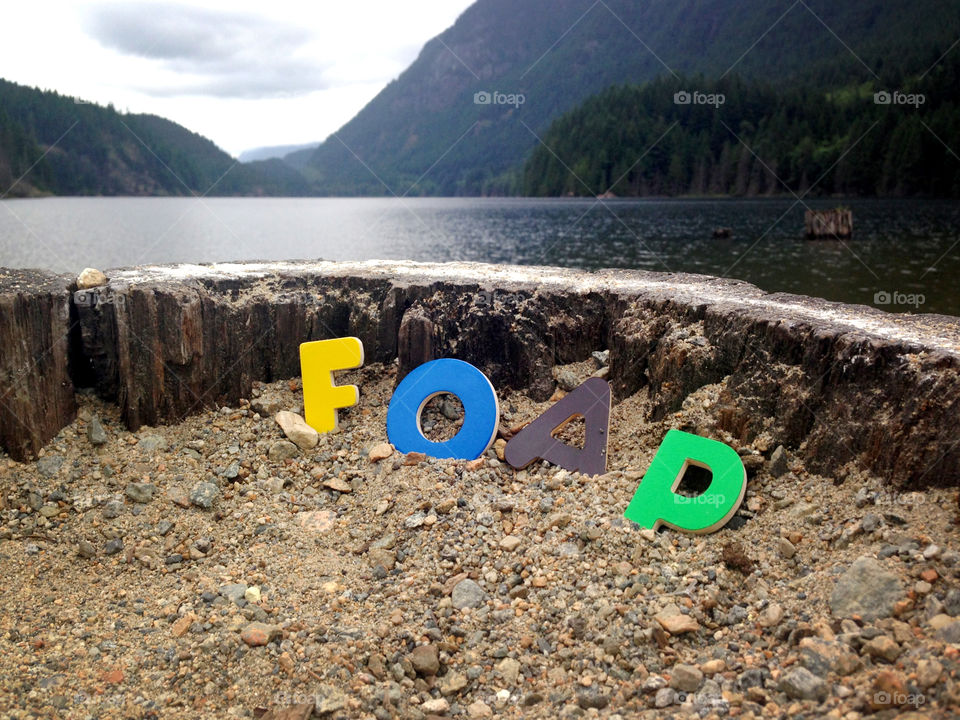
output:
[[4, 191], [10, 197], [305, 195], [310, 187], [279, 160], [239, 164], [164, 118], [0, 80]]

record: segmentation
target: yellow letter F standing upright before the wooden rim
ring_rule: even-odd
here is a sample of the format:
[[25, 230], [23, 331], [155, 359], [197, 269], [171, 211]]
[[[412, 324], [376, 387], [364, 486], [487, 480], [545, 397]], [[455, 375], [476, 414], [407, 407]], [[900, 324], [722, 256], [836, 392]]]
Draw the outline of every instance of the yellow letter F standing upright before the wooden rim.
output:
[[317, 432], [337, 429], [337, 409], [356, 405], [356, 385], [334, 385], [334, 370], [363, 365], [363, 343], [358, 338], [317, 340], [300, 345], [300, 374], [303, 377], [303, 416]]

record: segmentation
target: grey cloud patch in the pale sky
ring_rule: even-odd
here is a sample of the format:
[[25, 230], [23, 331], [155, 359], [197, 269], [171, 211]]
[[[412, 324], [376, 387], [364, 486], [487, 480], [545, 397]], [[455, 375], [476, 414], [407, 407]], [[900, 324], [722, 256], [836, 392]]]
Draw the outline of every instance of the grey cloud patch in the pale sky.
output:
[[328, 86], [330, 63], [310, 56], [307, 28], [254, 13], [175, 2], [101, 3], [89, 7], [84, 27], [102, 46], [176, 75], [137, 88], [148, 95], [255, 99]]

